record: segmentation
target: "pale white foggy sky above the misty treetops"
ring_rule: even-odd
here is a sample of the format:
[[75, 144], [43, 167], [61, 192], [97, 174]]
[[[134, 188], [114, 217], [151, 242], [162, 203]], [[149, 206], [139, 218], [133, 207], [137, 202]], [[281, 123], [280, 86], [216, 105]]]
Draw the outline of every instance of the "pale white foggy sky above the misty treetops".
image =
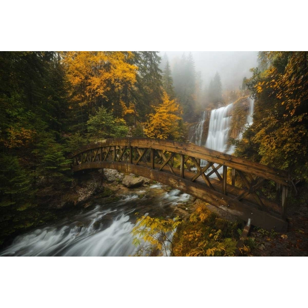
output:
[[[183, 53], [189, 55], [189, 51], [160, 51], [163, 69], [168, 58], [171, 70], [177, 61], [180, 61]], [[191, 51], [196, 72], [201, 71], [203, 87], [208, 87], [210, 80], [216, 72], [221, 77], [222, 90], [238, 90], [243, 78], [249, 78], [252, 67], [257, 67], [258, 51]]]

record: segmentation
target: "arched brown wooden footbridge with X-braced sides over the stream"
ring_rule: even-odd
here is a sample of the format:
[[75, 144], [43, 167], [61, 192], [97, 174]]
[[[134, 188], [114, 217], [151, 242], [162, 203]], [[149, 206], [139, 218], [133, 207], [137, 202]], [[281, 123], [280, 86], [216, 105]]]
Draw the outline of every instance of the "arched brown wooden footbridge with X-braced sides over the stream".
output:
[[[148, 138], [99, 140], [70, 157], [74, 172], [110, 168], [134, 173], [177, 188], [251, 225], [287, 229], [286, 197], [291, 180], [283, 170], [191, 143]], [[267, 181], [276, 183], [274, 197], [261, 191]]]

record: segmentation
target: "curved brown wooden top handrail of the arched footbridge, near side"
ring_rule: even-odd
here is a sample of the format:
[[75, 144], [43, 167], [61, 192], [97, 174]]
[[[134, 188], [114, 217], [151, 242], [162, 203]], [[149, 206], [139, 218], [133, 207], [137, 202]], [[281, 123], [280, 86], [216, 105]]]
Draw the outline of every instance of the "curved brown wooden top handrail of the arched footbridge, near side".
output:
[[157, 150], [167, 150], [170, 152], [176, 152], [178, 154], [200, 158], [202, 160], [223, 164], [230, 168], [235, 168], [237, 170], [249, 172], [250, 174], [254, 174], [268, 180], [273, 180], [279, 184], [291, 186], [290, 173], [285, 170], [265, 166], [241, 157], [236, 157], [223, 152], [201, 147], [193, 143], [178, 142], [173, 140], [135, 137], [109, 138], [98, 140], [84, 147], [81, 147], [77, 151], [71, 153], [69, 157], [72, 158], [82, 152], [106, 146], [132, 146], [140, 148], [154, 148]]

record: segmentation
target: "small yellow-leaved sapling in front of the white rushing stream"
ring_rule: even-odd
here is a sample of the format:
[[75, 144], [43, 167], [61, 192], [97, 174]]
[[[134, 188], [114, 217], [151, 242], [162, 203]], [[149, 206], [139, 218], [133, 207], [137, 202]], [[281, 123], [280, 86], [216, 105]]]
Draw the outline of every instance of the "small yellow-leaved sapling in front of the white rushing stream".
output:
[[132, 230], [133, 244], [140, 246], [137, 255], [167, 256], [170, 251], [172, 256], [172, 234], [180, 224], [179, 217], [162, 219], [142, 216], [138, 218]]

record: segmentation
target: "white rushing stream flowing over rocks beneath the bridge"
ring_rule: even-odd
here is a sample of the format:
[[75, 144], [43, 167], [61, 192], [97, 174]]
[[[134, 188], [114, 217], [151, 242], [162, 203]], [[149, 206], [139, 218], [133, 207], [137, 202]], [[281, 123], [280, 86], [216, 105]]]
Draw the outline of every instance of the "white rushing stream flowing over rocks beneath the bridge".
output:
[[176, 206], [190, 197], [177, 189], [167, 191], [166, 188], [155, 184], [135, 189], [113, 203], [96, 200], [97, 204], [91, 210], [83, 210], [53, 225], [16, 237], [0, 256], [135, 255], [138, 247], [132, 244], [131, 234], [136, 222], [135, 213], [169, 218]]

